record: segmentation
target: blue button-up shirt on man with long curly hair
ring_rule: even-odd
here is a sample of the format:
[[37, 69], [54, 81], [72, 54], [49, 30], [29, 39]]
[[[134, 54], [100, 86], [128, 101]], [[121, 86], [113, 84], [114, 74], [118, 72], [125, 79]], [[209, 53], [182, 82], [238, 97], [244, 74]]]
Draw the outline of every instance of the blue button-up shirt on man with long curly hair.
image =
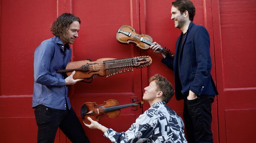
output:
[[34, 91], [32, 107], [45, 105], [50, 108], [66, 110], [71, 104], [65, 78], [57, 70], [65, 69], [71, 59], [69, 45], [63, 45], [59, 37], [43, 41], [35, 50]]

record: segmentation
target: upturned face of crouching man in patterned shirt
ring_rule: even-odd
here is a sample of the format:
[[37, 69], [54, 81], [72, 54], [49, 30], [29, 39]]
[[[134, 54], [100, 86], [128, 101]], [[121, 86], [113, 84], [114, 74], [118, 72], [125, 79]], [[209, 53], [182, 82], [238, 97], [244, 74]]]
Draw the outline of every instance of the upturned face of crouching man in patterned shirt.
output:
[[148, 102], [152, 102], [157, 97], [157, 94], [159, 91], [157, 91], [157, 84], [155, 81], [152, 81], [148, 87], [144, 88], [145, 92], [143, 94], [143, 100], [146, 100]]

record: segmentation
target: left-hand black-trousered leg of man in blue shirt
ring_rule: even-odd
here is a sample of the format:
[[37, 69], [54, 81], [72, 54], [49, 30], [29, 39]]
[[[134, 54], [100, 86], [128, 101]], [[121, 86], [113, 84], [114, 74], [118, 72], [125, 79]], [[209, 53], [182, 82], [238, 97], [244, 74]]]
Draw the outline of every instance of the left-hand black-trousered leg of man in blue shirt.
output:
[[35, 109], [37, 130], [37, 143], [53, 143], [59, 126], [56, 109], [38, 105]]

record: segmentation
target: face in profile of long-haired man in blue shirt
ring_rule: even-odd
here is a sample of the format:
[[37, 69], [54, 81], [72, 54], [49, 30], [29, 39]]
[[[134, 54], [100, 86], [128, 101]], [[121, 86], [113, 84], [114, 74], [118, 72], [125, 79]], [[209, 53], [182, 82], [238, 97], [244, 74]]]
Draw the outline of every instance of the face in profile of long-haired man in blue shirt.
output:
[[74, 43], [75, 38], [78, 37], [79, 28], [80, 28], [80, 24], [78, 21], [74, 21], [72, 24], [69, 25], [67, 32], [60, 36], [60, 39], [63, 45], [65, 45], [66, 43], [69, 43], [69, 44]]

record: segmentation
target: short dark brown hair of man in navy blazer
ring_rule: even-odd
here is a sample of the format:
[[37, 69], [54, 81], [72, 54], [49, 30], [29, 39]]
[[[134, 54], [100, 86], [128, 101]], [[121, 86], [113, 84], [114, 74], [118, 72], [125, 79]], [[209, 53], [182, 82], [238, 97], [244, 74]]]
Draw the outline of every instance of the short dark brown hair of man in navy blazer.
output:
[[186, 10], [188, 11], [189, 20], [193, 21], [194, 16], [196, 15], [196, 8], [194, 4], [189, 0], [175, 0], [171, 3], [174, 7], [176, 7], [181, 14], [183, 14]]

